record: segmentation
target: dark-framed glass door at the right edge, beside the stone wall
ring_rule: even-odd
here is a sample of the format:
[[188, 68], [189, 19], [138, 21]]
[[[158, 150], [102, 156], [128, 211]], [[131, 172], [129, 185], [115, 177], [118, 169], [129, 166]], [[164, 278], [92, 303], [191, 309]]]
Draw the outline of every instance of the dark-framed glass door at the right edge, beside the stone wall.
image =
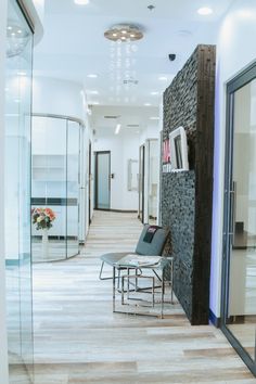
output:
[[228, 85], [222, 329], [256, 373], [256, 67]]

